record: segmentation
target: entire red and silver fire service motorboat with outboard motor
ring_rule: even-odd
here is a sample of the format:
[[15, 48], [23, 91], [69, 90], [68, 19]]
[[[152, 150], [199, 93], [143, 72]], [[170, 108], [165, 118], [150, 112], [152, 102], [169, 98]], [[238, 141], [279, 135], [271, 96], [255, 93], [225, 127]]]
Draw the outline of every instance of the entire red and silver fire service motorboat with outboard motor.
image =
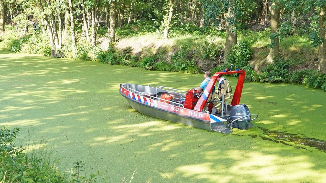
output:
[[[234, 74], [238, 75], [238, 82], [232, 94], [231, 103], [227, 104], [223, 96], [221, 100], [214, 100], [221, 104], [221, 113], [216, 112], [212, 103], [204, 109], [217, 78]], [[247, 105], [240, 104], [244, 78], [245, 72], [241, 69], [221, 70], [211, 77], [202, 93], [198, 93], [194, 88], [182, 91], [164, 86], [151, 87], [150, 85], [121, 83], [120, 94], [125, 97], [132, 108], [146, 116], [230, 134], [233, 128], [246, 130], [252, 127], [253, 125], [249, 122], [258, 118], [257, 114], [250, 114]]]

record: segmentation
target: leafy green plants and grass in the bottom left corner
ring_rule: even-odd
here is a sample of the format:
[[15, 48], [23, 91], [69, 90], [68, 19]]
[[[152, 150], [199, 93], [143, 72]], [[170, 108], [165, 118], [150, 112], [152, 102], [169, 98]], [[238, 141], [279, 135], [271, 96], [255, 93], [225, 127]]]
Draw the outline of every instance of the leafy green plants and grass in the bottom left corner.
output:
[[0, 176], [5, 182], [66, 182], [65, 176], [51, 163], [51, 154], [44, 150], [25, 152], [25, 148], [15, 147], [19, 128], [0, 129]]

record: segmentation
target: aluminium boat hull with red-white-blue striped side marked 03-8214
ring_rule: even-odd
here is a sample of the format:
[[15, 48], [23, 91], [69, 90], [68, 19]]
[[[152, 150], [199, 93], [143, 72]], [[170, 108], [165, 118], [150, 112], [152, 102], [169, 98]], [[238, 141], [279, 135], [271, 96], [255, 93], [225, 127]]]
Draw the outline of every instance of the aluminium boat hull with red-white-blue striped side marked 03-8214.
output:
[[[136, 90], [131, 90], [130, 88], [135, 88]], [[129, 83], [120, 85], [120, 94], [125, 97], [129, 105], [146, 116], [168, 120], [208, 131], [218, 131], [218, 129], [228, 128], [227, 120], [215, 115], [178, 107], [176, 104], [167, 104], [159, 100], [154, 100], [154, 98], [151, 99], [148, 95], [141, 95], [144, 93], [155, 92], [170, 92], [171, 94], [182, 95], [180, 93], [143, 85], [133, 85]]]

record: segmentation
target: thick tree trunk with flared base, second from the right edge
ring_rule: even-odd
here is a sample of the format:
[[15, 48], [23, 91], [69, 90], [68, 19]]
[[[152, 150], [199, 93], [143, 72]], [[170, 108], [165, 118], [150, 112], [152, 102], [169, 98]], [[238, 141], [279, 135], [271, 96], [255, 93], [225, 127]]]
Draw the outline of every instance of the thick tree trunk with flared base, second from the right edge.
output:
[[[280, 11], [279, 11], [279, 8], [277, 8], [275, 6], [275, 3], [273, 3], [272, 6], [274, 6], [275, 9], [272, 8], [272, 11], [271, 11], [271, 34], [275, 34], [275, 33], [277, 33], [277, 29], [278, 29]], [[275, 46], [273, 46], [273, 48], [271, 48], [268, 56], [266, 57], [267, 62], [269, 62], [269, 63], [272, 63], [274, 61], [274, 57], [278, 58], [279, 52], [280, 52], [278, 36], [275, 36], [273, 42], [275, 43]]]

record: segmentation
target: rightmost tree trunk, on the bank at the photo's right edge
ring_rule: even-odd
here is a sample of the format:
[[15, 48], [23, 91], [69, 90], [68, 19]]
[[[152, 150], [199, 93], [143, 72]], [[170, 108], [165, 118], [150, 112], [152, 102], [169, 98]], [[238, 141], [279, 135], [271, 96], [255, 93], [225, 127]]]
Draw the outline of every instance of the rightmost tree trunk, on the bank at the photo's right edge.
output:
[[319, 13], [319, 37], [323, 39], [323, 43], [318, 47], [318, 69], [324, 74], [326, 74], [326, 33], [324, 27], [324, 22], [326, 20], [325, 9], [326, 6], [321, 7]]

